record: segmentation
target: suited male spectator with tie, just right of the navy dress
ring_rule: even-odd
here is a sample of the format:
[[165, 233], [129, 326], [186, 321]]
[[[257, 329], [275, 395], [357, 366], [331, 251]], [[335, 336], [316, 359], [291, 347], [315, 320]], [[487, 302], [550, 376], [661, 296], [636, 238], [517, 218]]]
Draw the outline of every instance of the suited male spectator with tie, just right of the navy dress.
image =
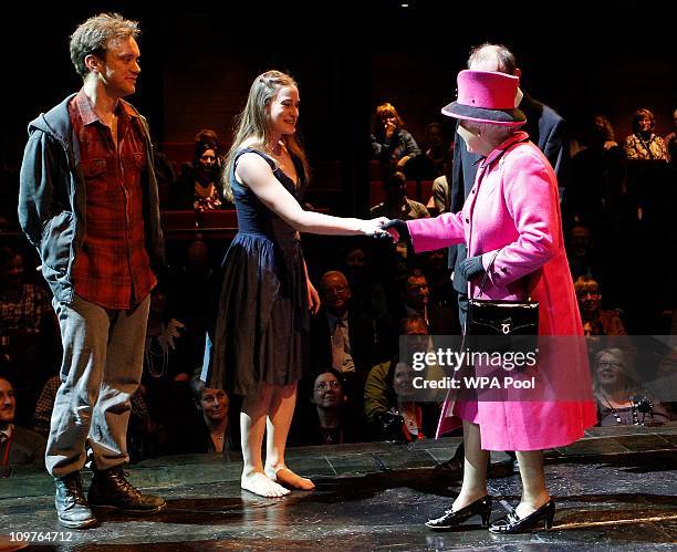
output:
[[361, 397], [375, 355], [374, 323], [352, 304], [342, 272], [326, 272], [319, 291], [322, 306], [311, 320], [311, 365], [333, 367], [347, 378], [346, 394]]

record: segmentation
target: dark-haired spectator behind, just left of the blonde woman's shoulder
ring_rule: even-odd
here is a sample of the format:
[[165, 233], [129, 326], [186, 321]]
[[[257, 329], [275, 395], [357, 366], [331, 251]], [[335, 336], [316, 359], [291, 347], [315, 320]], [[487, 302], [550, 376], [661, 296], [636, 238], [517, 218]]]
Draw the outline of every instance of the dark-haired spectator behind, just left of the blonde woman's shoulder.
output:
[[201, 131], [196, 136], [195, 156], [191, 164], [181, 166], [177, 185], [177, 208], [192, 208], [196, 211], [221, 209], [221, 160], [219, 144], [213, 131]]

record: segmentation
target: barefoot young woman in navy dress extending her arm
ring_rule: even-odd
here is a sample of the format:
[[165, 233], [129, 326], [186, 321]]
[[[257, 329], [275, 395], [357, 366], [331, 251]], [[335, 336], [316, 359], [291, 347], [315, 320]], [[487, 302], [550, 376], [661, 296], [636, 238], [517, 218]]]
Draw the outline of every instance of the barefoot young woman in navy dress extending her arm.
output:
[[235, 200], [238, 233], [223, 260], [201, 377], [209, 387], [243, 397], [241, 486], [263, 497], [282, 497], [290, 488], [314, 488], [284, 464], [296, 383], [310, 368], [310, 311], [320, 308], [299, 232], [378, 236], [387, 220], [302, 209], [299, 199], [308, 163], [294, 136], [298, 118], [295, 82], [278, 71], [259, 75], [227, 158], [225, 195]]

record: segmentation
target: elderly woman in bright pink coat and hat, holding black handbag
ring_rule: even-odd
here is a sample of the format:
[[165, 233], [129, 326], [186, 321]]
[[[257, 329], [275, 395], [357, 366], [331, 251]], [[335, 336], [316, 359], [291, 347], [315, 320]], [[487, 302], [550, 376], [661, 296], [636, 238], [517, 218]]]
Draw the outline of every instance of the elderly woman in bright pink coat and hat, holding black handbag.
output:
[[[480, 154], [473, 188], [458, 213], [434, 219], [392, 220], [384, 228], [395, 239], [407, 237], [416, 252], [466, 242], [468, 259], [460, 270], [469, 296], [539, 302], [539, 334], [581, 336], [583, 329], [566, 262], [556, 177], [548, 159], [520, 127], [524, 114], [514, 108], [519, 79], [503, 73], [461, 71], [458, 100], [445, 115], [459, 119], [458, 134], [471, 153]], [[480, 278], [488, 285], [481, 290]], [[552, 527], [554, 502], [545, 487], [543, 449], [569, 445], [595, 424], [590, 371], [585, 362], [558, 354], [554, 396], [571, 399], [521, 402], [454, 402], [448, 399], [440, 430], [460, 418], [464, 427], [464, 481], [451, 509], [426, 525], [451, 530], [473, 515], [489, 525], [487, 493], [490, 450], [514, 450], [522, 479], [515, 510], [494, 521], [492, 532], [528, 531], [541, 522]], [[551, 362], [552, 364], [552, 362]], [[552, 367], [552, 366], [551, 366]], [[590, 396], [558, 395], [566, 381]]]

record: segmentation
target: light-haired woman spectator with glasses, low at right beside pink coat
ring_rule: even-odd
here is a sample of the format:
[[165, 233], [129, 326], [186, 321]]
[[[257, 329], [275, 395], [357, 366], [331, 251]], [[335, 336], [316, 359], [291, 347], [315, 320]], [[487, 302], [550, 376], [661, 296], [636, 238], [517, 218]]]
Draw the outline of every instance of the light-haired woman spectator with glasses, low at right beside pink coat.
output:
[[664, 406], [642, 390], [622, 348], [603, 348], [595, 355], [593, 387], [600, 426], [660, 426], [669, 421]]

